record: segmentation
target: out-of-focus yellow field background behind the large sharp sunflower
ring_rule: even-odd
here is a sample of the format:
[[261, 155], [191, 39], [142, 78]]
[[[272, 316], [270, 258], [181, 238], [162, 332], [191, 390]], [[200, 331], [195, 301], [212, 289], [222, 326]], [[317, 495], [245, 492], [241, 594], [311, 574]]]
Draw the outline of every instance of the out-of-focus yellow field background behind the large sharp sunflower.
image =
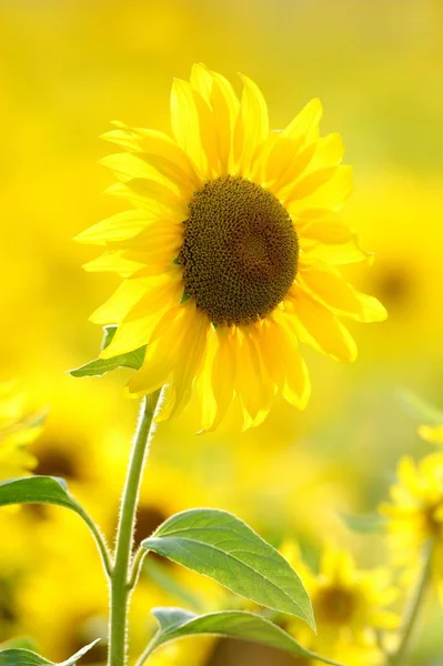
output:
[[[97, 253], [71, 239], [118, 210], [102, 194], [112, 176], [97, 162], [112, 147], [99, 135], [115, 119], [169, 131], [171, 80], [202, 61], [235, 85], [239, 71], [254, 79], [274, 128], [321, 98], [322, 132], [343, 135], [355, 171], [344, 218], [376, 253], [352, 278], [390, 317], [353, 326], [352, 366], [305, 350], [305, 413], [278, 404], [241, 436], [197, 436], [192, 413], [162, 425], [138, 536], [172, 512], [221, 506], [276, 545], [298, 539], [312, 566], [325, 541], [361, 566], [385, 562], [383, 542], [353, 535], [340, 514], [373, 511], [397, 458], [431, 451], [402, 387], [443, 405], [442, 34], [440, 0], [0, 0], [0, 379], [19, 377], [29, 408], [49, 410], [31, 447], [37, 472], [67, 477], [110, 537], [137, 404], [122, 396], [123, 371], [66, 374], [97, 355], [101, 331], [88, 316], [118, 283], [84, 273]], [[2, 512], [0, 534], [0, 642], [33, 636], [59, 659], [104, 633], [105, 587], [75, 516]], [[135, 646], [152, 628], [149, 608], [183, 605], [183, 585], [204, 597], [191, 605], [223, 603], [220, 588], [173, 567], [151, 573], [134, 597]], [[434, 608], [414, 664], [443, 664], [437, 622]], [[159, 653], [158, 664], [290, 663], [212, 640], [181, 649]]]

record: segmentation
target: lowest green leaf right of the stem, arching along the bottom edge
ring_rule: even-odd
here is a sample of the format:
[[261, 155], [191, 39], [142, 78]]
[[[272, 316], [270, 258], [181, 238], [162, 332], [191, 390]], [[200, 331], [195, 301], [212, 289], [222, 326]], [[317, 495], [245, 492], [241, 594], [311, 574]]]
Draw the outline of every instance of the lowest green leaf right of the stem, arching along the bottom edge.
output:
[[318, 659], [324, 664], [338, 666], [336, 662], [331, 662], [305, 649], [279, 626], [254, 613], [222, 610], [208, 615], [194, 615], [183, 608], [153, 608], [152, 614], [160, 628], [144, 653], [147, 658], [158, 647], [171, 640], [211, 634], [260, 643], [285, 650], [294, 657]]

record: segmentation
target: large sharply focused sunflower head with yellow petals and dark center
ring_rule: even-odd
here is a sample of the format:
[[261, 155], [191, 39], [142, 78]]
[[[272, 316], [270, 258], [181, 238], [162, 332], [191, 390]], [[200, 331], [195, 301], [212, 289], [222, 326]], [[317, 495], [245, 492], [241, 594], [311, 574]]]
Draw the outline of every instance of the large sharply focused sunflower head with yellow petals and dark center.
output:
[[131, 395], [167, 385], [159, 420], [194, 396], [204, 430], [226, 413], [258, 425], [276, 394], [303, 408], [310, 396], [299, 342], [354, 361], [342, 317], [385, 319], [338, 266], [366, 258], [338, 211], [352, 190], [339, 134], [319, 137], [311, 101], [282, 131], [270, 131], [259, 88], [202, 64], [174, 80], [172, 135], [115, 123], [104, 138], [125, 152], [102, 162], [129, 200], [78, 240], [105, 246], [90, 271], [124, 281], [92, 315], [118, 324], [102, 359], [148, 345]]

